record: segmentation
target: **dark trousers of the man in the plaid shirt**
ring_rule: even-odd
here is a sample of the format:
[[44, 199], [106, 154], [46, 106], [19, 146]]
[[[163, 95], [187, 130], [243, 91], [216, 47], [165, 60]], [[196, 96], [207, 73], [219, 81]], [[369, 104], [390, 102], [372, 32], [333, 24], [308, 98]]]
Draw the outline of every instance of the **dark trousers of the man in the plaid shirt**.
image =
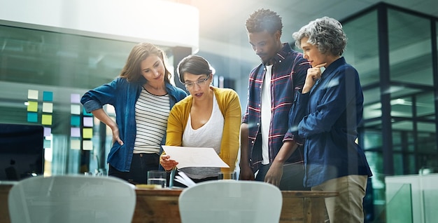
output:
[[[264, 177], [271, 165], [261, 165], [255, 180], [264, 181]], [[283, 176], [281, 177], [280, 189], [282, 191], [309, 191], [310, 188], [303, 186], [304, 166], [302, 163], [283, 165]]]

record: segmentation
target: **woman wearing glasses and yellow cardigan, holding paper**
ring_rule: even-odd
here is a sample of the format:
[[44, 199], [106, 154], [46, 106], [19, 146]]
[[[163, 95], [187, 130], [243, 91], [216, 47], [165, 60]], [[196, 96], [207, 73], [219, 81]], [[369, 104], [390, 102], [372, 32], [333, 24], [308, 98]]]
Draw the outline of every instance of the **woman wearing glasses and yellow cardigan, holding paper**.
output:
[[[221, 171], [234, 171], [239, 150], [241, 107], [232, 89], [211, 86], [213, 74], [209, 62], [189, 55], [178, 65], [181, 83], [190, 95], [171, 109], [167, 122], [166, 145], [213, 147], [229, 168], [181, 168], [194, 182], [218, 180]], [[163, 154], [160, 163], [172, 170], [178, 161]], [[175, 183], [178, 187], [182, 184]]]

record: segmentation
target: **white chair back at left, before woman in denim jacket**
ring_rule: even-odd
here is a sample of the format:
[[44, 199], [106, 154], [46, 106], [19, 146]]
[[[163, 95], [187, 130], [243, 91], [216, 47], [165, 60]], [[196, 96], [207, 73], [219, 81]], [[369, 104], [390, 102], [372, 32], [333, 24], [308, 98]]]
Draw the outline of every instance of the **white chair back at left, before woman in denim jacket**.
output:
[[115, 177], [29, 177], [8, 195], [12, 223], [131, 222], [134, 185]]

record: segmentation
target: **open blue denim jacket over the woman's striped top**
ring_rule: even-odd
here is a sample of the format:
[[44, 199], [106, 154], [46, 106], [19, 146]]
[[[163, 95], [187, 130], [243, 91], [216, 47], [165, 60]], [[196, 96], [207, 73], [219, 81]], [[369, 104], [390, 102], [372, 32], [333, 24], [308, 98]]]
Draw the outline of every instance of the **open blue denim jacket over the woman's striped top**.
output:
[[[122, 172], [128, 172], [131, 166], [136, 137], [135, 103], [145, 82], [144, 79], [139, 82], [128, 82], [126, 79], [118, 77], [110, 83], [89, 90], [80, 100], [87, 112], [101, 109], [104, 104], [113, 105], [115, 122], [118, 124], [120, 139], [124, 144], [120, 145], [118, 142], [114, 142], [107, 162]], [[170, 95], [170, 109], [174, 107], [176, 102], [187, 96], [185, 91], [170, 83], [166, 83], [166, 90]], [[166, 135], [164, 135], [162, 144], [165, 142]]]

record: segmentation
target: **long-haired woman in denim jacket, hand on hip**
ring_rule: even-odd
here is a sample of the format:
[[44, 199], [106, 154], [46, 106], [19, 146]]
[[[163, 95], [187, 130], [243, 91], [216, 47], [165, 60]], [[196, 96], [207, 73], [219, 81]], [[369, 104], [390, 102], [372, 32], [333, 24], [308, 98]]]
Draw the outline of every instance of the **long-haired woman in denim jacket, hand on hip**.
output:
[[[113, 131], [107, 160], [110, 176], [146, 184], [148, 170], [160, 168], [167, 117], [174, 104], [187, 96], [169, 82], [165, 59], [160, 48], [139, 43], [116, 79], [89, 90], [80, 100], [87, 112]], [[113, 105], [115, 121], [102, 108], [104, 104]]]

